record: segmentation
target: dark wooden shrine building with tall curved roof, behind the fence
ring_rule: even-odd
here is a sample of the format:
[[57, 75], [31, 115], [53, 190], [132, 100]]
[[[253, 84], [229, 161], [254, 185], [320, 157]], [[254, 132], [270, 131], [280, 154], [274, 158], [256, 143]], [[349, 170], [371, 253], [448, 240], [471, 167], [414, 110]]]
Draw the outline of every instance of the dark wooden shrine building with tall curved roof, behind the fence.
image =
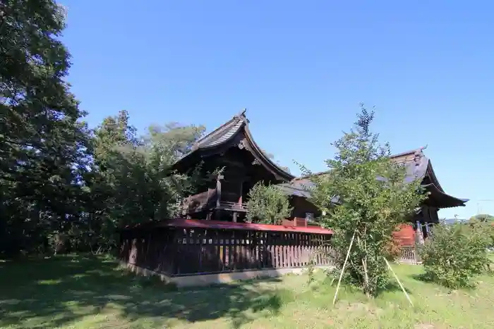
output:
[[245, 111], [200, 139], [174, 165], [181, 173], [200, 168], [203, 184], [183, 199], [180, 213], [185, 218], [217, 221], [245, 221], [248, 192], [257, 182], [280, 185], [294, 207], [291, 219], [312, 218], [318, 209], [307, 200], [306, 189], [292, 187], [294, 180], [277, 166], [255, 143], [248, 129]]

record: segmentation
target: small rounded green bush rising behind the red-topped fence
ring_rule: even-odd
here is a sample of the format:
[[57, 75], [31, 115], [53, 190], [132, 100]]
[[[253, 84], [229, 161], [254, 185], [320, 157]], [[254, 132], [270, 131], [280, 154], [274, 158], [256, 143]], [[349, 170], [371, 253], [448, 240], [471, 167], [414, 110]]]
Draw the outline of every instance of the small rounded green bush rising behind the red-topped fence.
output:
[[254, 223], [279, 224], [291, 214], [289, 198], [275, 185], [255, 184], [248, 193], [247, 220]]

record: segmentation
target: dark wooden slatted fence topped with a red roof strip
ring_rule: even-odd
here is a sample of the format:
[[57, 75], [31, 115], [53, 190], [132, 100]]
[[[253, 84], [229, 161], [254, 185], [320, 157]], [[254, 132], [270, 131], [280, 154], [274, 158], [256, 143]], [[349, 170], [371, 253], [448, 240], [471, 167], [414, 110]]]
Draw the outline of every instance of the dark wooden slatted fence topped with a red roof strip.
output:
[[330, 265], [331, 230], [177, 219], [121, 232], [120, 258], [171, 277]]

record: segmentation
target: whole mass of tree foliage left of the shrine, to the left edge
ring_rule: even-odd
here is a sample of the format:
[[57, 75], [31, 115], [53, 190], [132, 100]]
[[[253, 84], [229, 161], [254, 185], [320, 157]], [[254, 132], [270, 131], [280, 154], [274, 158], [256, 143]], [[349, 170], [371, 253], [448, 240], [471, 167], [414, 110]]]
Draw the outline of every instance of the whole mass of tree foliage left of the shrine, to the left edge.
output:
[[109, 250], [117, 228], [172, 216], [195, 185], [171, 164], [203, 127], [138, 136], [121, 111], [88, 129], [64, 27], [53, 0], [0, 1], [0, 254]]

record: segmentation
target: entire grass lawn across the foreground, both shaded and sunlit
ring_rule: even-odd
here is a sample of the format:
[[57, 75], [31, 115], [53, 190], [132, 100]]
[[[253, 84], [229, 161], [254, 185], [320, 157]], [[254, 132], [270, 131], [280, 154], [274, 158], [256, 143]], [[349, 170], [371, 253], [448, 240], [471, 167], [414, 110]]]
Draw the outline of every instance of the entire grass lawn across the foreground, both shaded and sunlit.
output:
[[494, 328], [494, 278], [474, 291], [418, 280], [420, 266], [395, 266], [398, 287], [369, 301], [322, 273], [176, 290], [138, 278], [103, 257], [0, 261], [1, 328]]

